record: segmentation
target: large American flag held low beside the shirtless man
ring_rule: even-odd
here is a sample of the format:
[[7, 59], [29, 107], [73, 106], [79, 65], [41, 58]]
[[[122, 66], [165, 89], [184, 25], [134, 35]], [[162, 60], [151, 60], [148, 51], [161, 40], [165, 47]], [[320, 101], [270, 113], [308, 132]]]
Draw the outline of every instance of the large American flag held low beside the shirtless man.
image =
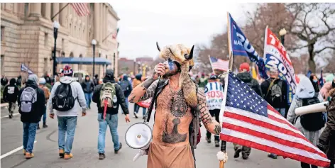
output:
[[329, 166], [324, 152], [312, 145], [294, 125], [235, 74], [229, 72], [225, 81], [221, 140], [319, 167]]

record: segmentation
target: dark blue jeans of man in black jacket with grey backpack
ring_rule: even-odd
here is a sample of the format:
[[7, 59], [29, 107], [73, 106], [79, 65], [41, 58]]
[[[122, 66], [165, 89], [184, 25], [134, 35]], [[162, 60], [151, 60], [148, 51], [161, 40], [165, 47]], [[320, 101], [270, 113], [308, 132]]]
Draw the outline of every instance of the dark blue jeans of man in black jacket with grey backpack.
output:
[[23, 150], [33, 152], [38, 123], [23, 123]]

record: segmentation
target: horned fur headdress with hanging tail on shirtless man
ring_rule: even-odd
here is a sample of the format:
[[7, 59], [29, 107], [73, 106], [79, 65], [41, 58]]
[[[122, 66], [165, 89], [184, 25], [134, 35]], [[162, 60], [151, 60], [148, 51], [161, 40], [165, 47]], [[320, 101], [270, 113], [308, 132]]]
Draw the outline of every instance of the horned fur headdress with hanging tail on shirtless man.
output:
[[160, 58], [164, 60], [171, 59], [180, 65], [179, 86], [182, 89], [186, 103], [196, 108], [197, 107], [197, 88], [190, 78], [190, 69], [194, 66], [193, 49], [185, 47], [185, 45], [167, 45], [160, 50], [160, 46], [156, 43], [160, 51]]

